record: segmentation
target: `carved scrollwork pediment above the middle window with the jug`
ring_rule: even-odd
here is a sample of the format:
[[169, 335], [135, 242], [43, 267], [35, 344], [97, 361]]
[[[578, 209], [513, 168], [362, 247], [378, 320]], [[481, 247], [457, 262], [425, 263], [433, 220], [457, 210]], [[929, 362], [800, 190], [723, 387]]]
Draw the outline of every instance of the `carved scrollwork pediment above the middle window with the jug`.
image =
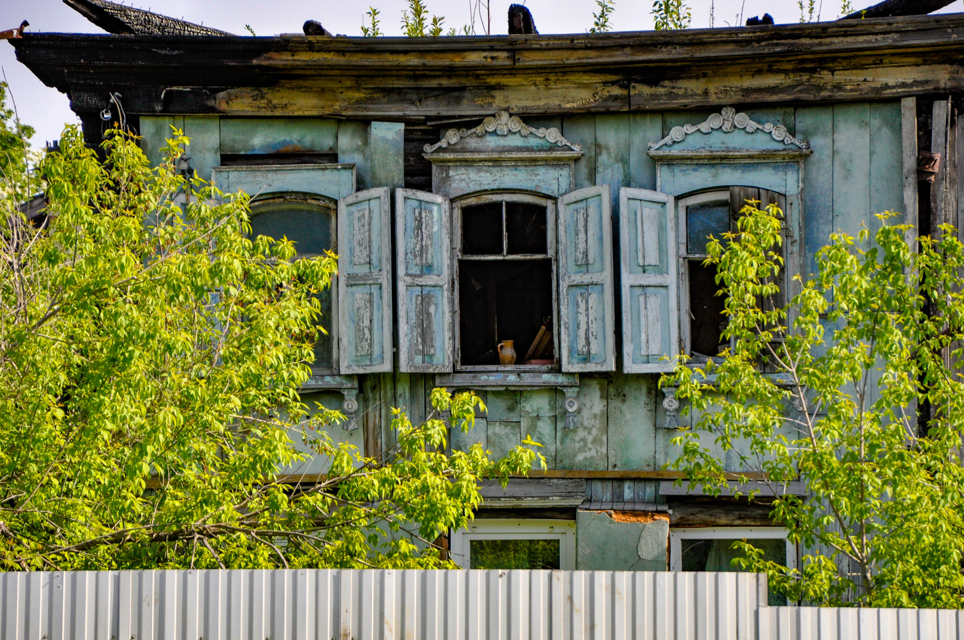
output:
[[532, 127], [507, 111], [496, 112], [469, 129], [449, 129], [442, 140], [423, 147], [432, 162], [470, 159], [576, 159], [582, 146], [572, 143], [555, 127]]

